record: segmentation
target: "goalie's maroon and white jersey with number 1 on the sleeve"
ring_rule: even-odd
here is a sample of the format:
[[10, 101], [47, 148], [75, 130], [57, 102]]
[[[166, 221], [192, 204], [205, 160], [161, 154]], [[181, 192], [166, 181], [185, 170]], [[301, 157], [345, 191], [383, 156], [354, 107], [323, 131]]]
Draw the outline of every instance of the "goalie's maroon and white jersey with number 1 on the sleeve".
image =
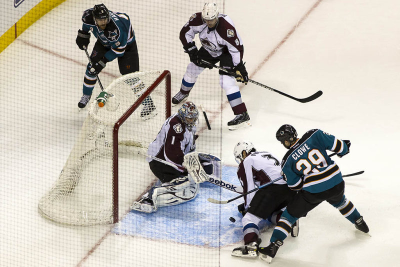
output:
[[[147, 153], [177, 164], [181, 168], [175, 167], [175, 169], [183, 172], [183, 156], [196, 149], [195, 132], [196, 126], [189, 131], [175, 113], [165, 120], [155, 140], [148, 145]], [[147, 158], [148, 162], [151, 160]]]

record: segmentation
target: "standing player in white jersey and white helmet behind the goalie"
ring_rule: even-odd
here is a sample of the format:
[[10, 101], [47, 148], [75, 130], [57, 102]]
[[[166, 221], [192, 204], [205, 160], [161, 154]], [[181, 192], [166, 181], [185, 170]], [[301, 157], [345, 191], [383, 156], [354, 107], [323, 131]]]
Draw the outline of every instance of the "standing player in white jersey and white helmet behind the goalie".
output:
[[[200, 49], [197, 49], [193, 41], [196, 34], [200, 39]], [[242, 40], [232, 19], [225, 14], [219, 14], [216, 3], [207, 2], [201, 12], [192, 14], [189, 21], [180, 30], [179, 39], [183, 44], [183, 49], [190, 57], [190, 63], [183, 75], [179, 92], [172, 97], [173, 105], [188, 97], [198, 75], [205, 67], [208, 67], [201, 63], [201, 59], [212, 64], [219, 61], [219, 66], [241, 75], [236, 78], [237, 81], [247, 84], [247, 71], [242, 61]], [[228, 128], [234, 130], [251, 125], [235, 78], [220, 70], [219, 84], [225, 90], [230, 107], [236, 115], [227, 123]]]

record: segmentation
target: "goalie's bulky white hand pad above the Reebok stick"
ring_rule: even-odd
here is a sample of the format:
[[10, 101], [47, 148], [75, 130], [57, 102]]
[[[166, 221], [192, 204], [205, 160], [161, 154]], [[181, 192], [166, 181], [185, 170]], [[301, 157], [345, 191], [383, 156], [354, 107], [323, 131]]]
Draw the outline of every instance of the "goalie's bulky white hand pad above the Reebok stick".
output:
[[191, 152], [183, 156], [183, 165], [196, 183], [209, 180], [209, 177], [220, 178], [221, 160], [211, 154]]

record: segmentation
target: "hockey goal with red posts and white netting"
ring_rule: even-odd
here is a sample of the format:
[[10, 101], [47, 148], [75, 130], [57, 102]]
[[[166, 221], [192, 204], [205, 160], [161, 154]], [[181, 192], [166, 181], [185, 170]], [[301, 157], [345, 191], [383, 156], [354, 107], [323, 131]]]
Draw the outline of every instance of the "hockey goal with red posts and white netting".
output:
[[95, 99], [89, 102], [88, 116], [57, 181], [39, 200], [44, 217], [73, 225], [116, 222], [118, 204], [126, 209], [148, 185], [140, 188], [137, 183], [138, 177], [150, 177], [137, 149], [148, 146], [170, 115], [170, 73], [126, 74], [105, 91], [109, 96], [104, 107]]

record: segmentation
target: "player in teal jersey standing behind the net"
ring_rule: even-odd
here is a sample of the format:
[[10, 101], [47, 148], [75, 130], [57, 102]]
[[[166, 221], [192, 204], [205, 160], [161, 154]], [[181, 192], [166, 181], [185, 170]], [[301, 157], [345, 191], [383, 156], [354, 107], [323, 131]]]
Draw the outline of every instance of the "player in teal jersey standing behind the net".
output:
[[[134, 31], [130, 18], [125, 13], [108, 10], [104, 4], [96, 4], [82, 15], [82, 29], [78, 30], [76, 44], [79, 49], [84, 50], [90, 41], [91, 31], [97, 41], [94, 44], [90, 58], [93, 63], [88, 63], [83, 79], [83, 96], [78, 106], [83, 108], [91, 97], [98, 74], [109, 61], [118, 58], [119, 72], [124, 75], [139, 70], [139, 55]], [[132, 89], [137, 81], [132, 82]], [[136, 86], [140, 87], [140, 86]], [[151, 113], [155, 106], [148, 96], [143, 101], [143, 111]], [[142, 116], [143, 117], [143, 116]]]

